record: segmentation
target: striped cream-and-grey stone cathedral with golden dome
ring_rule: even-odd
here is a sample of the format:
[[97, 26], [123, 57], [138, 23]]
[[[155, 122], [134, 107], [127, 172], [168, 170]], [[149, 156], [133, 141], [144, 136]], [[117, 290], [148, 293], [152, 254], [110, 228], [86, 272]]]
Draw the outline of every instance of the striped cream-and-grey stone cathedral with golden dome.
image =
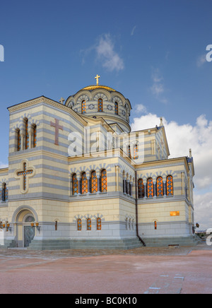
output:
[[106, 85], [8, 107], [0, 248], [192, 246], [192, 151], [169, 158], [163, 118], [131, 131], [131, 102]]

